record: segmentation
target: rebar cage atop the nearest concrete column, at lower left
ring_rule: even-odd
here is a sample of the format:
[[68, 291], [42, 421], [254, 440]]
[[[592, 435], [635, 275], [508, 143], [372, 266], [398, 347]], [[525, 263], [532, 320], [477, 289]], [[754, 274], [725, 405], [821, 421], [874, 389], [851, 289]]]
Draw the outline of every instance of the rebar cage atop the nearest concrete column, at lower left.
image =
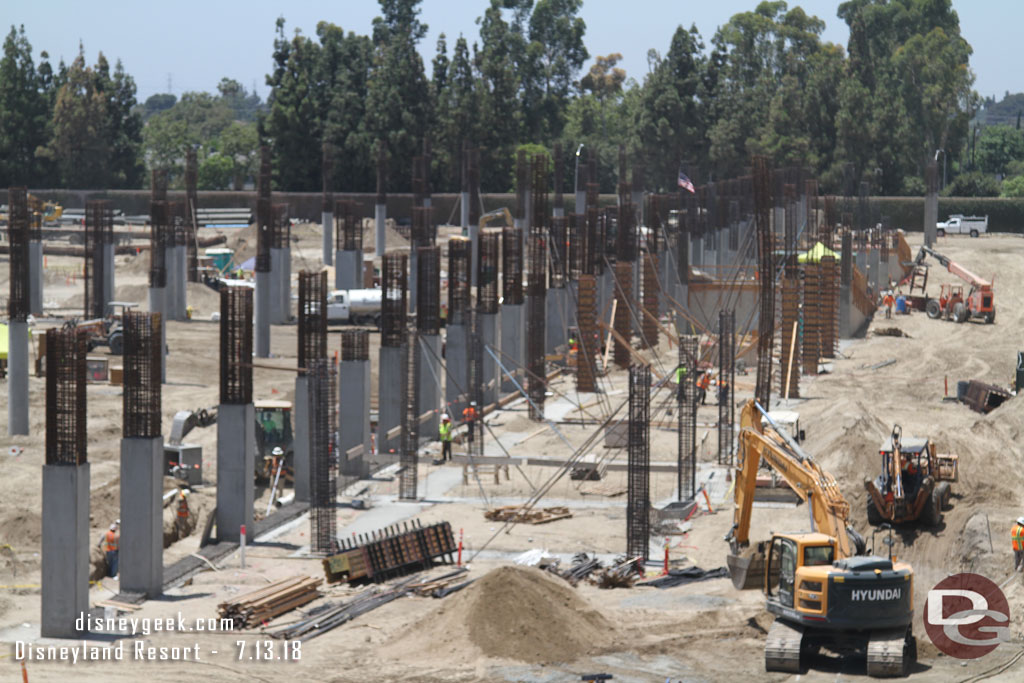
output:
[[85, 330], [46, 331], [46, 464], [86, 463]]

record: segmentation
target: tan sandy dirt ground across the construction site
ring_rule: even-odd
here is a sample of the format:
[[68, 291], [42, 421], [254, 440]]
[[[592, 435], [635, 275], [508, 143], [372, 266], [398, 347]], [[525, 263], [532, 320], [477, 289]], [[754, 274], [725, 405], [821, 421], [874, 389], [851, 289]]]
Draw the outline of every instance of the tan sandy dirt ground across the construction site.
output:
[[[293, 234], [300, 238], [301, 249], [293, 248], [293, 270], [317, 267], [318, 226], [301, 226]], [[910, 236], [916, 250], [921, 236]], [[914, 633], [919, 642], [920, 663], [911, 678], [922, 681], [959, 680], [994, 670], [1022, 647], [1024, 631], [1024, 586], [1020, 575], [1012, 575], [1013, 555], [1010, 528], [1013, 520], [1024, 514], [1021, 500], [1021, 449], [1024, 435], [1024, 403], [1012, 399], [987, 416], [971, 412], [954, 401], [943, 400], [948, 380], [954, 393], [958, 380], [978, 379], [1008, 385], [1016, 367], [1017, 351], [1022, 350], [1018, 334], [1024, 323], [1024, 240], [1018, 236], [991, 234], [980, 239], [949, 237], [941, 239], [937, 250], [982, 276], [995, 275], [995, 302], [998, 315], [994, 325], [932, 321], [924, 313], [886, 319], [880, 310], [864, 339], [844, 342], [839, 357], [822, 366], [817, 377], [802, 377], [799, 399], [788, 401], [799, 411], [807, 433], [805, 450], [825, 469], [836, 475], [842, 493], [854, 510], [855, 525], [862, 532], [868, 526], [865, 514], [863, 479], [873, 477], [881, 467], [878, 450], [893, 424], [904, 435], [930, 436], [940, 452], [955, 453], [961, 458], [961, 478], [953, 484], [951, 507], [942, 523], [934, 528], [898, 528], [894, 553], [909, 561], [915, 571]], [[305, 257], [303, 264], [302, 256]], [[45, 299], [69, 310], [75, 296], [81, 296], [81, 261], [68, 257], [48, 257]], [[118, 298], [145, 300], [146, 256], [118, 257]], [[78, 269], [78, 270], [76, 270]], [[0, 257], [0, 288], [7, 287], [8, 264]], [[929, 287], [937, 293], [941, 282], [954, 282], [938, 265], [931, 269]], [[189, 301], [197, 308], [191, 322], [168, 325], [168, 383], [163, 388], [164, 433], [171, 418], [181, 409], [214, 405], [218, 401], [218, 325], [209, 322], [217, 310], [217, 297], [199, 285], [189, 286]], [[42, 329], [54, 321], [42, 318]], [[898, 328], [905, 336], [879, 336], [882, 328]], [[336, 328], [332, 328], [332, 332]], [[295, 326], [274, 327], [267, 362], [282, 368], [296, 365]], [[376, 366], [377, 337], [372, 335], [371, 358]], [[338, 348], [336, 334], [329, 337], [329, 349]], [[777, 348], [777, 345], [776, 345]], [[655, 374], [666, 374], [676, 365], [676, 348], [669, 347], [664, 336], [656, 357], [650, 351], [639, 353], [653, 362]], [[102, 354], [97, 349], [98, 354]], [[112, 356], [112, 360], [114, 357]], [[885, 361], [895, 362], [884, 365]], [[116, 364], [117, 361], [114, 360]], [[777, 375], [777, 358], [776, 358]], [[375, 368], [376, 370], [376, 368]], [[376, 394], [376, 372], [374, 373]], [[627, 373], [615, 370], [602, 380], [607, 404], [617, 407], [627, 397]], [[737, 401], [750, 397], [754, 374], [739, 377]], [[44, 380], [30, 379], [32, 435], [0, 436], [0, 642], [5, 678], [19, 676], [14, 643], [80, 644], [39, 640], [40, 617], [40, 511], [41, 466], [44, 459], [45, 418]], [[549, 395], [550, 405], [577, 401], [571, 377], [562, 375], [552, 389], [565, 397]], [[785, 407], [773, 383], [772, 408]], [[673, 390], [663, 389], [651, 399], [652, 420], [672, 424], [665, 408], [675, 408]], [[260, 398], [290, 400], [294, 392], [294, 373], [286, 370], [257, 369], [254, 393]], [[698, 422], [713, 424], [718, 409], [714, 390], [708, 405], [699, 410]], [[592, 396], [579, 398], [583, 403]], [[6, 415], [7, 392], [0, 391], [0, 415]], [[374, 398], [376, 401], [376, 398]], [[561, 435], [544, 425], [529, 421], [522, 401], [489, 418], [493, 435], [498, 436], [512, 457], [564, 460], [592, 433], [593, 426], [559, 424]], [[587, 408], [595, 417], [602, 415], [601, 404]], [[624, 415], [625, 413], [621, 413]], [[737, 409], [738, 414], [738, 409]], [[95, 544], [106, 525], [119, 512], [119, 441], [121, 437], [122, 392], [120, 387], [91, 384], [88, 387], [89, 462], [91, 463], [90, 541]], [[579, 417], [570, 414], [568, 417]], [[701, 443], [700, 481], [712, 472], [709, 484], [714, 512], [694, 516], [689, 530], [670, 537], [671, 559], [677, 565], [695, 564], [712, 569], [725, 564], [727, 544], [723, 537], [732, 524], [731, 489], [726, 472], [714, 466], [717, 457], [717, 432], [698, 428]], [[573, 449], [562, 440], [566, 439]], [[203, 446], [206, 485], [197, 492], [197, 505], [209, 510], [213, 505], [216, 472], [216, 428], [197, 429], [188, 441]], [[486, 455], [501, 450], [486, 437]], [[652, 464], [672, 464], [676, 460], [677, 436], [673, 428], [652, 428], [650, 458]], [[10, 446], [18, 446], [10, 450]], [[602, 441], [593, 449], [598, 456], [609, 455], [625, 463], [625, 450], [606, 452]], [[456, 446], [456, 454], [462, 447]], [[17, 455], [12, 455], [17, 452]], [[610, 470], [599, 482], [580, 482], [563, 476], [554, 483], [540, 506], [569, 507], [571, 518], [543, 525], [521, 524], [503, 531], [501, 525], [484, 519], [488, 505], [508, 505], [525, 501], [532, 486], [560, 472], [556, 467], [528, 466], [510, 468], [495, 484], [490, 475], [477, 481], [472, 476], [463, 484], [461, 466], [430, 465], [433, 444], [424, 453], [419, 467], [419, 503], [397, 502], [397, 481], [384, 470], [367, 482], [362, 498], [369, 510], [357, 510], [342, 498], [338, 507], [341, 532], [361, 528], [373, 519], [404, 521], [417, 518], [423, 523], [446, 520], [461, 529], [465, 540], [464, 558], [470, 560], [471, 578], [482, 578], [492, 570], [506, 567], [516, 555], [543, 549], [563, 559], [573, 553], [598, 553], [602, 558], [621, 555], [626, 549], [626, 472]], [[165, 479], [170, 490], [174, 481]], [[482, 490], [482, 493], [481, 493]], [[589, 492], [589, 493], [588, 493]], [[266, 492], [258, 489], [257, 516], [266, 506]], [[484, 501], [486, 497], [486, 502]], [[675, 474], [657, 472], [651, 476], [651, 500], [656, 506], [674, 499]], [[168, 515], [170, 512], [167, 513]], [[374, 515], [377, 515], [374, 517]], [[361, 521], [360, 521], [361, 520]], [[805, 506], [773, 505], [755, 510], [752, 539], [767, 538], [771, 530], [807, 528]], [[869, 533], [866, 533], [870, 537]], [[881, 537], [880, 537], [881, 541]], [[6, 544], [6, 545], [3, 545]], [[652, 556], [662, 556], [664, 537], [651, 539]], [[187, 626], [196, 620], [217, 615], [216, 606], [223, 600], [265, 586], [268, 581], [298, 573], [322, 577], [321, 560], [308, 554], [309, 521], [303, 517], [250, 545], [246, 567], [236, 553], [197, 574], [187, 585], [172, 589], [159, 600], [151, 600], [132, 618], [177, 620]], [[193, 553], [198, 548], [197, 535], [165, 550], [165, 564]], [[879, 549], [884, 546], [879, 544]], [[476, 553], [480, 552], [477, 556]], [[433, 571], [442, 572], [443, 567]], [[928, 590], [950, 573], [971, 570], [1005, 584], [1011, 606], [1011, 630], [1014, 642], [1001, 645], [979, 659], [958, 660], [940, 653], [925, 635], [922, 612]], [[536, 569], [512, 571], [478, 581], [463, 592], [437, 600], [404, 597], [371, 611], [301, 644], [301, 659], [250, 659], [256, 643], [263, 638], [257, 631], [136, 634], [124, 639], [124, 661], [27, 663], [30, 680], [66, 681], [179, 681], [202, 676], [209, 681], [570, 681], [585, 673], [609, 673], [616, 681], [693, 680], [720, 681], [739, 678], [752, 680], [796, 680], [784, 674], [764, 672], [763, 646], [771, 616], [764, 609], [758, 591], [739, 592], [727, 579], [714, 579], [687, 586], [658, 590], [600, 590], [589, 584], [572, 589], [544, 582], [560, 579], [537, 575]], [[657, 569], [650, 567], [650, 572]], [[537, 587], [534, 590], [531, 587]], [[90, 592], [90, 602], [111, 598], [118, 592], [116, 580], [103, 579]], [[326, 596], [306, 605], [303, 611], [350, 595], [353, 589], [325, 587]], [[290, 612], [271, 622], [268, 628], [299, 618]], [[495, 634], [500, 638], [495, 638]], [[575, 635], [574, 635], [575, 634]], [[579, 637], [577, 637], [579, 636]], [[153, 661], [136, 659], [134, 641], [144, 646], [193, 648], [199, 646], [200, 660]], [[109, 635], [93, 635], [87, 642], [105, 646], [114, 642]], [[240, 656], [240, 645], [244, 648]], [[281, 656], [283, 645], [274, 641], [273, 654]], [[214, 653], [216, 651], [216, 653]], [[179, 652], [180, 653], [180, 652]], [[144, 654], [144, 653], [143, 653]], [[1019, 666], [1000, 674], [1008, 679], [1024, 678]], [[831, 681], [865, 679], [863, 660], [834, 659], [821, 656], [801, 680]]]

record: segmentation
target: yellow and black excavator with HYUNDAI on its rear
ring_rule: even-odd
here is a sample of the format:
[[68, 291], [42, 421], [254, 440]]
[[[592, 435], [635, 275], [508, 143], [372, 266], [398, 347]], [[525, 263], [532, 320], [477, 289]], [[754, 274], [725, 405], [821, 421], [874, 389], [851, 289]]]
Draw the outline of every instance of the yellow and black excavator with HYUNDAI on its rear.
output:
[[[811, 529], [773, 531], [752, 548], [762, 461], [807, 503]], [[753, 400], [740, 414], [735, 476], [727, 563], [733, 585], [760, 585], [768, 611], [775, 614], [765, 642], [765, 670], [800, 673], [802, 659], [824, 648], [865, 654], [868, 676], [905, 676], [916, 658], [913, 569], [891, 556], [864, 555], [864, 540], [850, 525], [850, 504], [835, 477]]]

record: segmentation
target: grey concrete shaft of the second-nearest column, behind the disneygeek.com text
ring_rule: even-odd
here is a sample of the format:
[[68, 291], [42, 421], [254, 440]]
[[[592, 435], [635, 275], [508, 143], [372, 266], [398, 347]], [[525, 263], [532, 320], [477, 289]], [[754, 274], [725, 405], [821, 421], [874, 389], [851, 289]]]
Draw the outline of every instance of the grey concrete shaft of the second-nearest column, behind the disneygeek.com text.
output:
[[164, 439], [121, 439], [121, 590], [156, 597], [164, 586]]

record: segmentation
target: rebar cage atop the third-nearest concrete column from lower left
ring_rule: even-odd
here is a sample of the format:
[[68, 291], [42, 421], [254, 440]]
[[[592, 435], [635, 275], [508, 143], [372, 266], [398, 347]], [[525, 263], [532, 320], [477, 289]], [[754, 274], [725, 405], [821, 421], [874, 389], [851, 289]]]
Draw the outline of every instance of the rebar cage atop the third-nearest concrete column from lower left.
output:
[[220, 402], [253, 402], [253, 290], [220, 290]]

